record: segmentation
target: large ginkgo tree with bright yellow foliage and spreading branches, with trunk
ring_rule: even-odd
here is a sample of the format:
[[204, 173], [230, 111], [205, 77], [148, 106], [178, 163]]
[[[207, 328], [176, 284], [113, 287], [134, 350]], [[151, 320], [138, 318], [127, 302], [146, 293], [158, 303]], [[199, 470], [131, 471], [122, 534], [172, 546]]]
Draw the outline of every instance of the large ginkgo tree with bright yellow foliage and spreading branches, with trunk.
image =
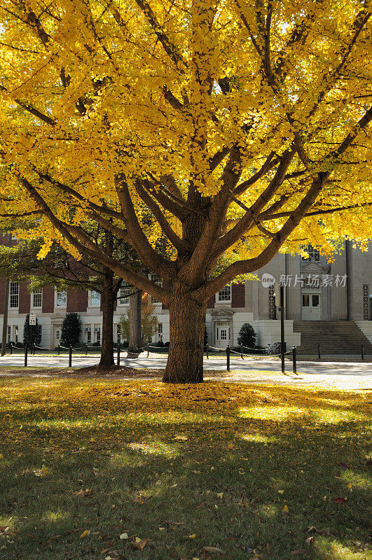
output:
[[371, 237], [368, 4], [1, 0], [2, 227], [31, 216], [164, 302], [164, 380], [202, 381], [216, 291], [304, 240]]

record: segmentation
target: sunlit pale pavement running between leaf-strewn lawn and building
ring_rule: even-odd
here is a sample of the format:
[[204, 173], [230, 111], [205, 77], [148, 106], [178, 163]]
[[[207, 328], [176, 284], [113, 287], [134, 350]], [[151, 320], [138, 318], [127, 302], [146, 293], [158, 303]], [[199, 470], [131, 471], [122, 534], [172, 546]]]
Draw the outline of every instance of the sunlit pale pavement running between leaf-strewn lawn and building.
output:
[[[120, 365], [137, 368], [141, 370], [151, 369], [159, 370], [165, 367], [166, 357], [141, 357], [125, 358], [123, 353], [120, 358]], [[73, 356], [73, 368], [86, 367], [98, 363], [99, 356]], [[2, 370], [4, 375], [27, 375], [24, 369], [24, 358], [22, 355], [4, 356], [0, 358], [0, 370], [4, 366], [13, 366], [11, 370]], [[67, 356], [29, 356], [28, 365], [32, 368], [65, 368], [68, 367]], [[334, 388], [345, 389], [366, 389], [372, 388], [372, 365], [371, 363], [355, 363], [355, 362], [319, 362], [319, 361], [301, 361], [298, 363], [298, 375], [292, 373], [291, 361], [286, 360], [286, 374], [280, 372], [280, 360], [267, 359], [240, 359], [231, 358], [230, 373], [226, 372], [226, 358], [213, 358], [204, 360], [205, 370], [210, 370], [211, 374], [206, 372], [205, 378], [213, 379], [229, 379], [230, 381], [249, 381], [249, 382], [274, 382], [279, 384], [303, 384], [303, 385], [319, 385], [324, 387], [332, 386]], [[13, 370], [14, 368], [14, 370]], [[221, 375], [218, 373], [221, 372]], [[39, 373], [43, 376], [43, 370]]]

